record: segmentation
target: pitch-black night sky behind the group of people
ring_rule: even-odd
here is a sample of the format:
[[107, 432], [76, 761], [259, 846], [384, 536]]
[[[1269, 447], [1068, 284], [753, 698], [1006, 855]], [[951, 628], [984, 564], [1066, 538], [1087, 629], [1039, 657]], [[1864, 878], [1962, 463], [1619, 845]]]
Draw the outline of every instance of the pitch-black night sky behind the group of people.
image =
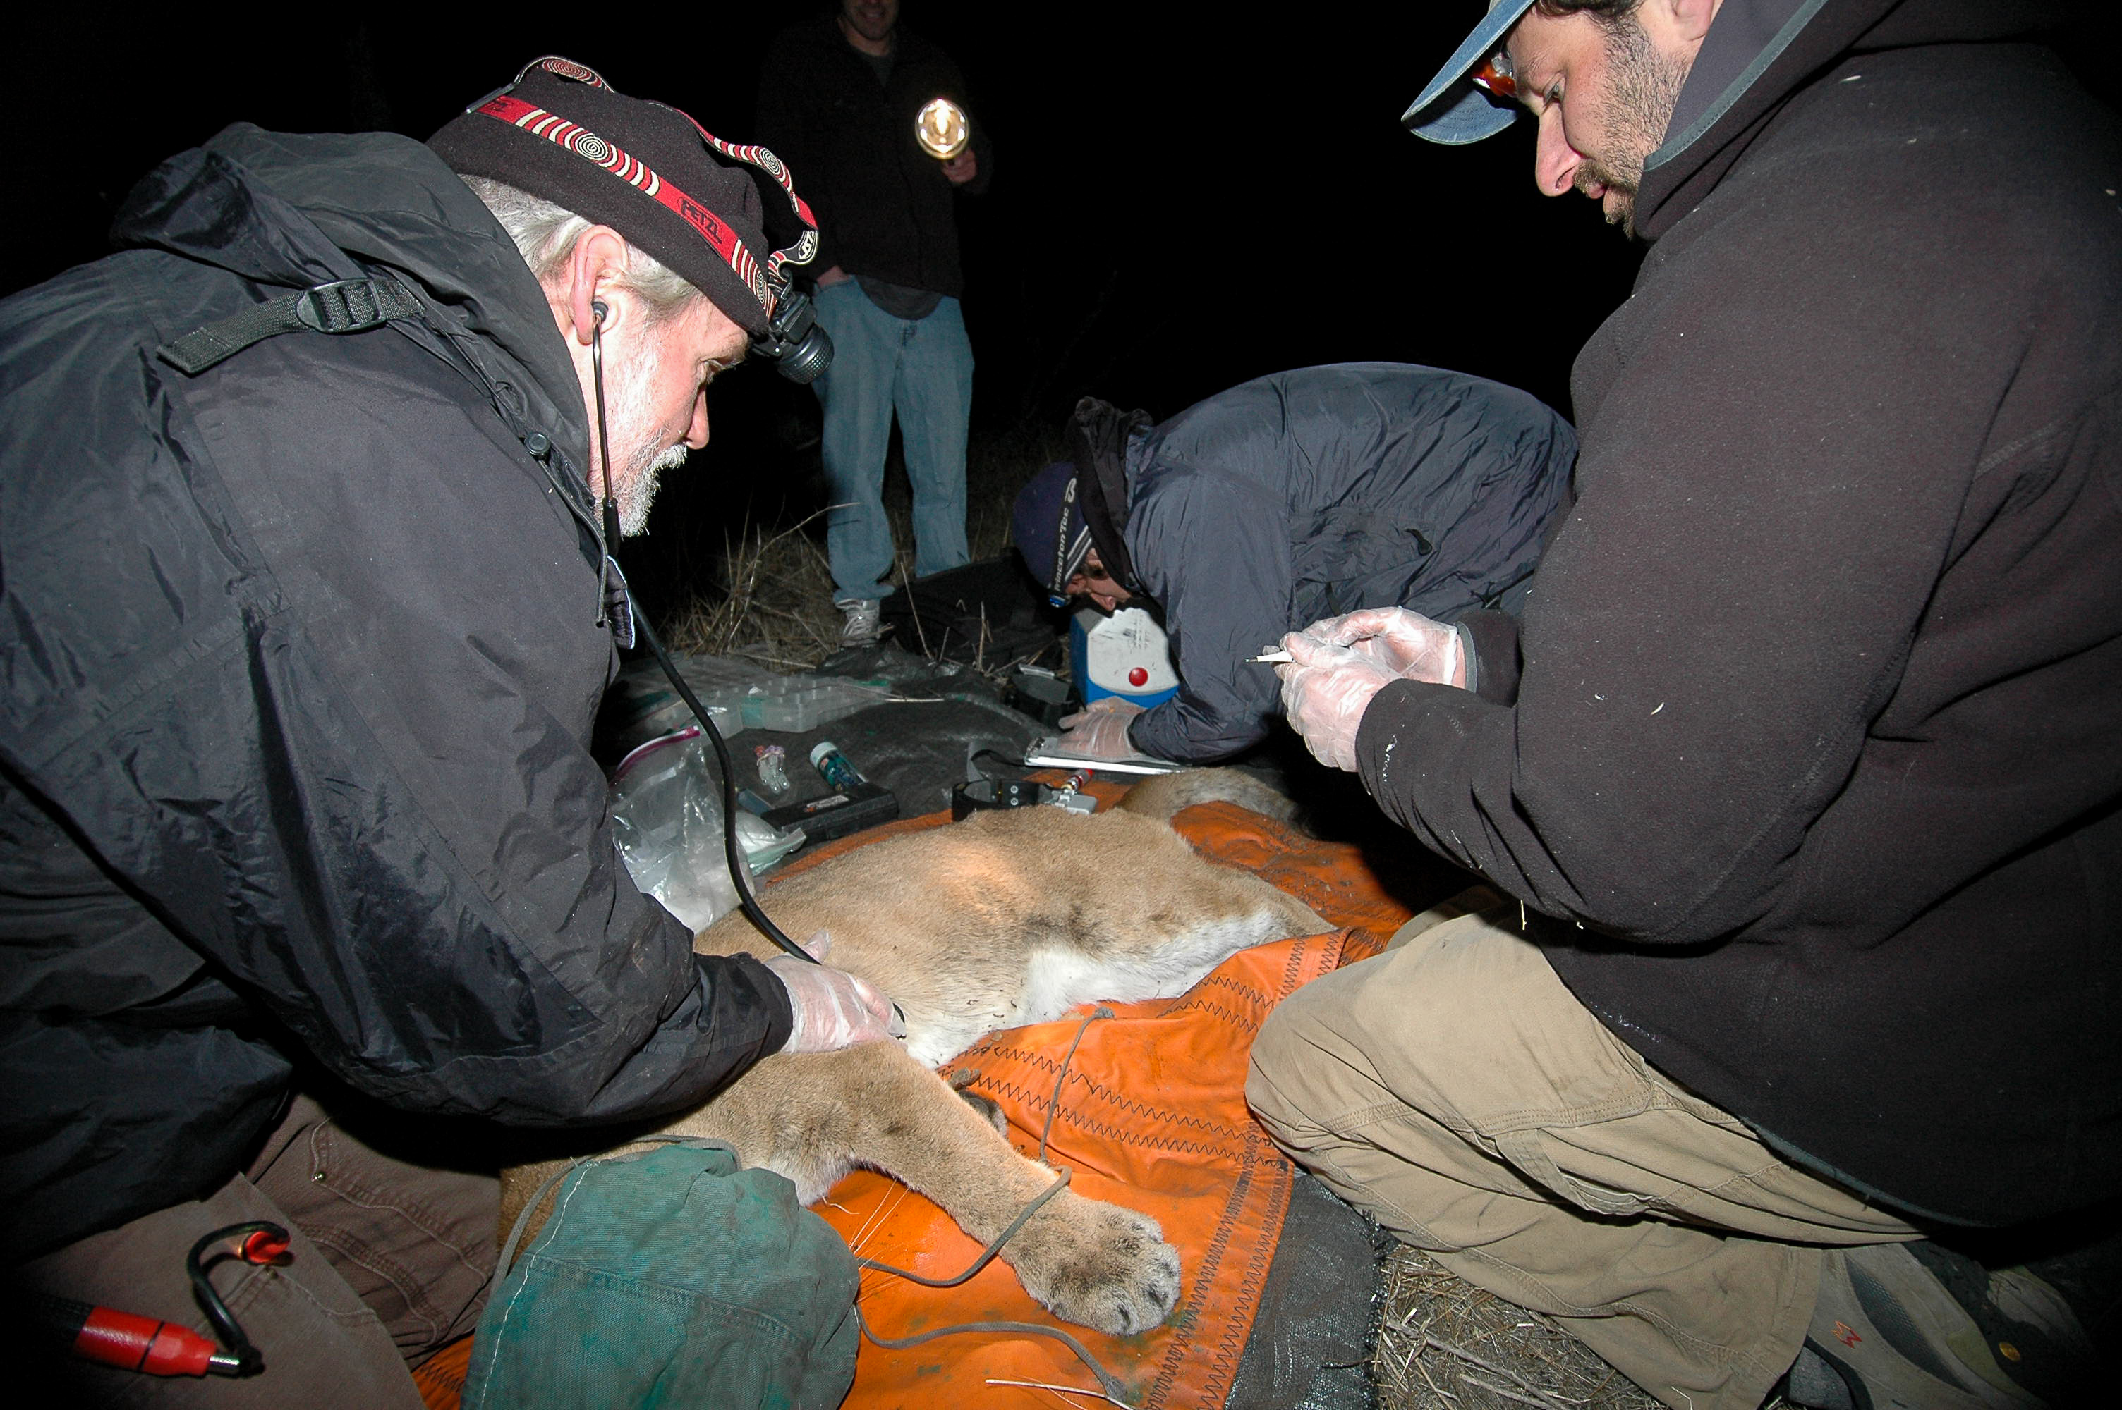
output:
[[[100, 254], [125, 189], [225, 123], [427, 136], [539, 53], [743, 140], [766, 40], [817, 11], [42, 8], [15, 32], [32, 61], [15, 66], [0, 293]], [[1568, 409], [1570, 360], [1638, 252], [1589, 201], [1534, 191], [1530, 125], [1441, 148], [1396, 121], [1479, 13], [906, 0], [902, 23], [957, 57], [997, 153], [989, 195], [961, 201], [976, 456], [978, 437], [1036, 443], [1086, 392], [1163, 418], [1352, 358], [1473, 371]], [[2065, 55], [2094, 51], [2090, 34], [2060, 38]], [[764, 369], [724, 380], [681, 496], [787, 481], [775, 447], [806, 413], [808, 392]]]

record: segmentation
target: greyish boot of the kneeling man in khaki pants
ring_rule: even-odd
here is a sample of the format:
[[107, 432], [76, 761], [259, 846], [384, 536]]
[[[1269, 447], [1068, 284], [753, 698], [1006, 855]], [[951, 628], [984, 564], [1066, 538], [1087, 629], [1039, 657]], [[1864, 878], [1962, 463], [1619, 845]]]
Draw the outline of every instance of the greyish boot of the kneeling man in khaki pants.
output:
[[1785, 1397], [1808, 1410], [2041, 1410], [2003, 1361], [2018, 1370], [2048, 1346], [2043, 1327], [1999, 1310], [1969, 1257], [1931, 1242], [1827, 1249]]

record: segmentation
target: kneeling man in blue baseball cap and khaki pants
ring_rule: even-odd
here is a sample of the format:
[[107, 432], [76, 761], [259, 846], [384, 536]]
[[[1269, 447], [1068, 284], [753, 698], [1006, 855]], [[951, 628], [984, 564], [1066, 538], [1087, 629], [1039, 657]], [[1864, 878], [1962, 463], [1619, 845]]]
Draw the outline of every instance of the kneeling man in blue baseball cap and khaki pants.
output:
[[1286, 638], [1511, 903], [1294, 994], [1250, 1096], [1668, 1406], [2092, 1404], [2012, 1249], [2122, 1194], [2122, 140], [2031, 19], [1502, 0], [1407, 112], [1526, 108], [1649, 252], [1477, 689], [1415, 613]]

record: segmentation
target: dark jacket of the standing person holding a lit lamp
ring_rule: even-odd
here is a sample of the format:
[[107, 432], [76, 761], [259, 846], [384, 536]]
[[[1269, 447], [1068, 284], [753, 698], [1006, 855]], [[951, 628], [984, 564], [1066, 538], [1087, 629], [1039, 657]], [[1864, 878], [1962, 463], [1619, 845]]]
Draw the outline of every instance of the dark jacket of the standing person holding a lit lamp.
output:
[[959, 187], [915, 142], [915, 117], [932, 98], [966, 110], [980, 174], [963, 191], [985, 191], [995, 153], [966, 100], [966, 81], [942, 49], [906, 25], [893, 36], [889, 85], [832, 17], [783, 32], [766, 51], [758, 131], [817, 216], [811, 274], [840, 265], [904, 288], [963, 293]]

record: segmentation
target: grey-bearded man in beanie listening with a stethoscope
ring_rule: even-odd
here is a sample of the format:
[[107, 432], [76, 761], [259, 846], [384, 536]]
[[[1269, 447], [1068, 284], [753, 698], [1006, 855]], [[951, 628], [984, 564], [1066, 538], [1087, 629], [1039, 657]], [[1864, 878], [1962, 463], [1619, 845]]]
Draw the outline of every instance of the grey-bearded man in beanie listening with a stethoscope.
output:
[[639, 1122], [885, 1035], [845, 973], [694, 954], [588, 753], [609, 541], [707, 382], [800, 350], [815, 225], [770, 153], [543, 59], [427, 144], [231, 127], [115, 233], [0, 303], [8, 1262], [197, 1323], [187, 1251], [286, 1226], [212, 1270], [263, 1374], [79, 1399], [418, 1406], [497, 1187], [386, 1109]]

